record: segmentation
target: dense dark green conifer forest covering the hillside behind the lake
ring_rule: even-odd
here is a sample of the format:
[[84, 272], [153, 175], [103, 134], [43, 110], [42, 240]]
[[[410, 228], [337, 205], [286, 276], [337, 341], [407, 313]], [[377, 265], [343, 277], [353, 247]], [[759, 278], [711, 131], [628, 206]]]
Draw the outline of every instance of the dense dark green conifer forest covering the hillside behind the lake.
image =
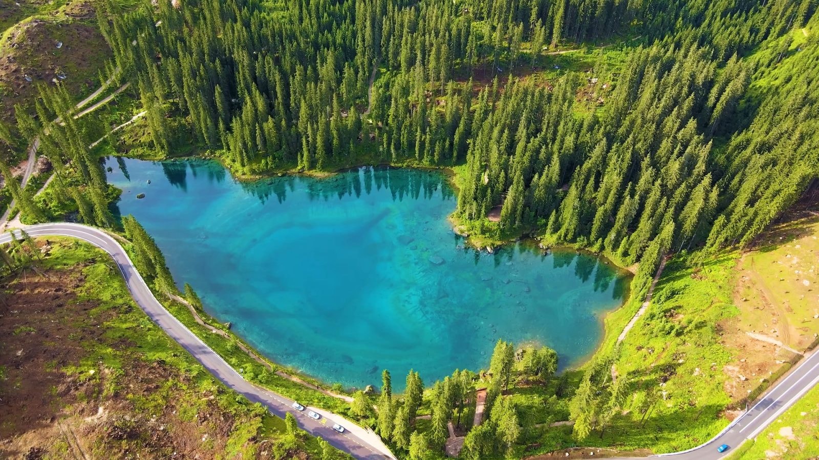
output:
[[[175, 5], [97, 11], [159, 151], [184, 133], [239, 174], [461, 165], [459, 219], [640, 262], [638, 290], [669, 251], [747, 244], [819, 175], [816, 38], [778, 40], [812, 0]], [[509, 77], [623, 34], [646, 44], [616, 73]]]

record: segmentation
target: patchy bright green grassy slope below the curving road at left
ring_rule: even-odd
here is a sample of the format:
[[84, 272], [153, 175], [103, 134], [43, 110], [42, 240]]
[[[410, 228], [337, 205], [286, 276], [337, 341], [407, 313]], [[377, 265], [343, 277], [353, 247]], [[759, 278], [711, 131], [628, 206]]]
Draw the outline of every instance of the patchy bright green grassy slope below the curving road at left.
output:
[[[79, 351], [70, 359], [48, 363], [46, 370], [55, 372], [54, 388], [70, 385], [67, 392], [52, 392], [59, 396], [50, 407], [57, 419], [64, 419], [66, 426], [79, 433], [80, 445], [86, 452], [106, 458], [112, 453], [156, 457], [171, 451], [201, 454], [204, 458], [271, 458], [284, 455], [289, 447], [287, 458], [320, 455], [318, 441], [308, 435], [303, 435], [301, 448], [285, 445], [283, 420], [225, 388], [156, 327], [133, 304], [119, 271], [101, 250], [68, 238], [50, 241], [50, 255], [38, 263], [48, 278], [29, 271], [25, 280], [12, 277], [4, 283], [11, 291], [20, 292], [12, 302], [25, 301], [54, 286], [57, 291], [52, 293], [66, 292], [66, 288], [74, 291], [73, 299], [55, 309], [57, 313], [61, 309], [77, 309], [64, 314], [70, 316], [69, 331], [73, 330], [66, 337], [70, 340], [66, 346], [79, 345], [76, 347]], [[25, 308], [23, 304], [16, 306]], [[27, 316], [20, 313], [4, 320], [14, 322], [10, 325], [14, 327], [14, 336], [43, 337], [35, 340], [60, 338], [48, 334], [48, 326], [28, 324]], [[97, 327], [104, 331], [97, 337], [91, 336], [88, 331]], [[60, 346], [58, 341], [44, 344]], [[30, 363], [30, 359], [25, 359], [25, 363]], [[7, 365], [0, 367], [0, 394], [14, 402], [16, 388], [21, 383], [25, 385], [26, 375], [31, 372], [16, 372], [9, 363], [2, 364]], [[141, 372], [135, 375], [134, 370]], [[103, 408], [101, 414], [105, 413], [102, 422], [94, 417], [79, 417], [97, 406]], [[43, 440], [42, 432], [38, 431], [42, 428], [37, 423], [29, 426], [26, 423], [25, 418], [2, 423], [4, 430], [16, 431], [9, 438], [14, 440], [15, 447], [25, 449], [25, 440], [29, 440], [35, 447], [46, 446], [51, 458], [64, 458], [70, 453], [72, 448], [65, 440], [49, 443]], [[163, 428], [159, 428], [160, 424]], [[157, 437], [156, 431], [165, 431], [165, 427], [167, 435]]]

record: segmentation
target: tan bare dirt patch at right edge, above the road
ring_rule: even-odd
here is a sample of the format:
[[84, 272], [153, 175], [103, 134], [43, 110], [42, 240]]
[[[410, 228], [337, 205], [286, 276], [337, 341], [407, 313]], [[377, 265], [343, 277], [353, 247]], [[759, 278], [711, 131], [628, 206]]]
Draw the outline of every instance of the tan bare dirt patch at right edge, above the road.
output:
[[819, 333], [819, 218], [807, 215], [776, 224], [737, 260], [740, 314], [718, 324], [732, 357], [722, 370], [734, 402], [769, 386]]

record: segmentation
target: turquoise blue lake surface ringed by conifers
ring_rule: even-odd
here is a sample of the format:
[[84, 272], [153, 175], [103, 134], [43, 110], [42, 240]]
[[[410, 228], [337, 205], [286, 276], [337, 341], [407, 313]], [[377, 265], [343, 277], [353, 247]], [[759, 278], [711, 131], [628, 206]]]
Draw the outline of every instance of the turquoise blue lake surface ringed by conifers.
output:
[[[109, 182], [174, 279], [270, 359], [344, 386], [488, 368], [495, 341], [595, 350], [628, 278], [573, 250], [464, 248], [438, 172], [361, 168], [238, 183], [213, 161], [109, 159]], [[148, 183], [147, 181], [150, 181]], [[138, 193], [145, 198], [138, 200]]]

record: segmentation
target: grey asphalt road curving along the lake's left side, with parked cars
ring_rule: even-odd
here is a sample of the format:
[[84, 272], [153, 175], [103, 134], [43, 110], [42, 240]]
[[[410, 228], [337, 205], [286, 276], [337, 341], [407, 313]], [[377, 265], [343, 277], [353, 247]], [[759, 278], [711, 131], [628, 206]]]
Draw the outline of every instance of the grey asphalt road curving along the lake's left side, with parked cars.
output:
[[[134, 268], [131, 259], [125, 253], [111, 235], [98, 228], [80, 225], [79, 223], [42, 223], [30, 225], [24, 228], [31, 237], [74, 237], [87, 241], [93, 246], [106, 251], [120, 268], [128, 290], [133, 295], [133, 300], [141, 309], [156, 322], [172, 339], [176, 340], [185, 350], [188, 350], [208, 372], [219, 379], [225, 386], [245, 396], [251, 402], [264, 404], [277, 417], [284, 417], [286, 413], [296, 416], [299, 426], [314, 436], [321, 436], [337, 449], [350, 453], [355, 458], [363, 460], [376, 460], [383, 458], [394, 458], [389, 454], [389, 450], [382, 443], [376, 442], [376, 435], [370, 431], [364, 431], [360, 427], [353, 426], [351, 422], [346, 422], [342, 417], [325, 411], [318, 411], [324, 417], [316, 421], [307, 417], [305, 412], [296, 411], [291, 405], [292, 399], [287, 399], [283, 395], [278, 395], [273, 391], [256, 386], [242, 377], [228, 363], [216, 354], [210, 346], [206, 345], [192, 331], [185, 327], [179, 319], [175, 318], [162, 304], [156, 300], [152, 291], [148, 288]], [[19, 237], [19, 234], [18, 234]], [[11, 241], [9, 233], [0, 235], [0, 244]], [[328, 420], [329, 419], [329, 420]], [[332, 429], [333, 422], [338, 422], [345, 426], [347, 430], [342, 434]], [[353, 431], [353, 432], [351, 432]], [[360, 432], [361, 435], [356, 435]], [[362, 436], [368, 438], [364, 440]], [[377, 445], [380, 444], [380, 445]]]

